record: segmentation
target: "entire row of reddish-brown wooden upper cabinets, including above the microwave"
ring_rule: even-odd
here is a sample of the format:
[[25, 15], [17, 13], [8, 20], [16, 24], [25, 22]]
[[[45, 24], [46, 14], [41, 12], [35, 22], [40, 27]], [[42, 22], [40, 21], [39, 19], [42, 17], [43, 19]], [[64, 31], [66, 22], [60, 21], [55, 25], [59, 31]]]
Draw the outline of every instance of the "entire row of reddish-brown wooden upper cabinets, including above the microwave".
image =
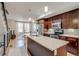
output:
[[44, 28], [49, 29], [54, 22], [61, 22], [63, 29], [78, 29], [79, 28], [79, 9], [65, 12], [50, 18], [44, 19]]

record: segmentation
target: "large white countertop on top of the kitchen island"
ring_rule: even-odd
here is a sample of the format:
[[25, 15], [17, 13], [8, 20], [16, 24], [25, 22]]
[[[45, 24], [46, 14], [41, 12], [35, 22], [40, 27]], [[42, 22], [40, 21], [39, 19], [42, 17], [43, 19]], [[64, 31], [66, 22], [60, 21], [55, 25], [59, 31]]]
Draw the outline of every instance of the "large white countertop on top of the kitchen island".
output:
[[39, 43], [40, 45], [48, 48], [51, 51], [56, 50], [57, 48], [60, 48], [68, 43], [67, 41], [63, 41], [63, 40], [59, 40], [59, 39], [55, 39], [55, 38], [50, 38], [50, 37], [46, 37], [46, 36], [41, 36], [41, 35], [27, 36], [27, 37], [29, 37], [30, 39]]

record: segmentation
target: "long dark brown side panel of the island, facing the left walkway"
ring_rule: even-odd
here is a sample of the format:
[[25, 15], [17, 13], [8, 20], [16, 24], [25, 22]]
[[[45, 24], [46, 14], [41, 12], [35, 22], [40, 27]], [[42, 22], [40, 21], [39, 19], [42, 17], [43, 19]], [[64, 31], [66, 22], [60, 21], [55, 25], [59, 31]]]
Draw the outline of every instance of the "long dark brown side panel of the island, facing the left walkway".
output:
[[50, 51], [30, 38], [28, 38], [27, 48], [32, 56], [54, 56], [54, 51]]

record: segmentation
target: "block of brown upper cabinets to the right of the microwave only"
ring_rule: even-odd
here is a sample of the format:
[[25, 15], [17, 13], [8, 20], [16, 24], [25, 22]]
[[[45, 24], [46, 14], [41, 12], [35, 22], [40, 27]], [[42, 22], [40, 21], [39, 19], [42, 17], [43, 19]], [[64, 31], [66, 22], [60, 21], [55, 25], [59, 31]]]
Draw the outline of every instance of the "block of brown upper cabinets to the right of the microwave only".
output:
[[78, 28], [78, 9], [62, 14], [63, 29], [77, 29]]

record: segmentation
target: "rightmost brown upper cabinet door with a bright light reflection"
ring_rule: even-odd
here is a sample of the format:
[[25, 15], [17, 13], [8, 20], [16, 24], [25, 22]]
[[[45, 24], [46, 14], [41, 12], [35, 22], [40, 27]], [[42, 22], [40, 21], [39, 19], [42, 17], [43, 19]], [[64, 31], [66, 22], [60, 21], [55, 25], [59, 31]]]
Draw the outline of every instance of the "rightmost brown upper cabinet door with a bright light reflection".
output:
[[70, 28], [78, 29], [78, 10], [70, 13]]

